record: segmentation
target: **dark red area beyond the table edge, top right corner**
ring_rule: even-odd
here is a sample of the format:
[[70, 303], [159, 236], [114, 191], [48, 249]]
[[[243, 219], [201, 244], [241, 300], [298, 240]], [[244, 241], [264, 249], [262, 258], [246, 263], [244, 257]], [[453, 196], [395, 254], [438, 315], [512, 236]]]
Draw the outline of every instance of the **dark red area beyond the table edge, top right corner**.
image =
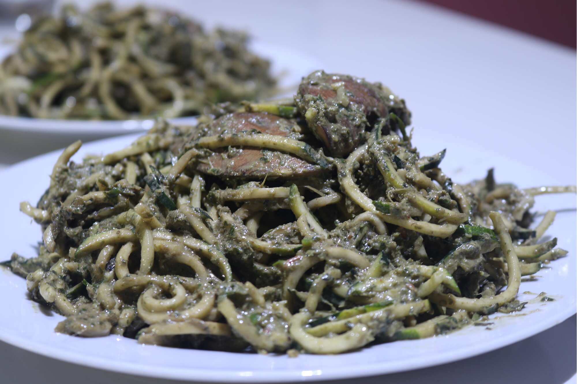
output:
[[421, 0], [575, 49], [575, 0]]

